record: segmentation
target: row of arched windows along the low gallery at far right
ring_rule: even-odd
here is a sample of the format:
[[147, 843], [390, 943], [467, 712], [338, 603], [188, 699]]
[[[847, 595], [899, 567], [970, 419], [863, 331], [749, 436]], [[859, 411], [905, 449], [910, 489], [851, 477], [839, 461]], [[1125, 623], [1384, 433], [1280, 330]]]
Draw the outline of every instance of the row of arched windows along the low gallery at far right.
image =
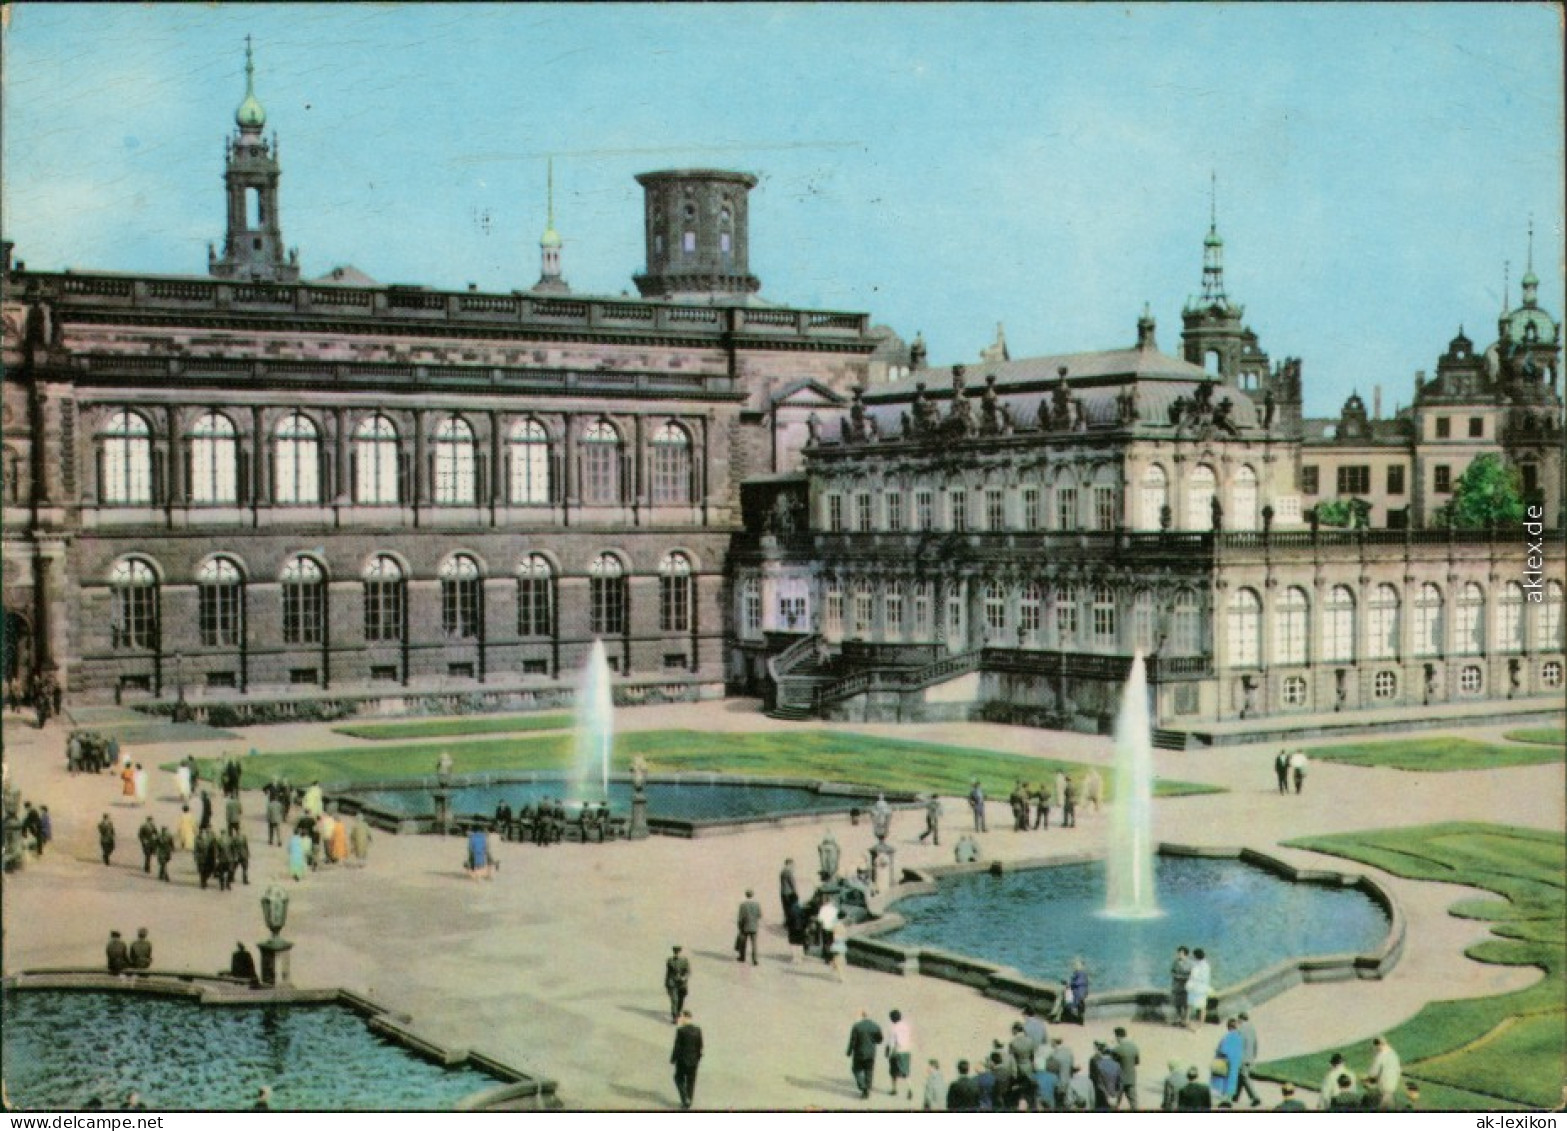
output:
[[[1476, 583], [1464, 584], [1453, 609], [1451, 638], [1448, 609], [1442, 589], [1421, 584], [1415, 592], [1410, 620], [1410, 655], [1413, 656], [1478, 656], [1487, 650], [1486, 591]], [[1225, 606], [1230, 666], [1255, 667], [1263, 658], [1263, 602], [1255, 589], [1236, 589]], [[1357, 634], [1355, 595], [1348, 586], [1334, 586], [1323, 602], [1318, 617], [1318, 652], [1323, 663], [1395, 659], [1402, 653], [1401, 597], [1395, 586], [1379, 584], [1371, 591], [1365, 611], [1363, 644]], [[1562, 586], [1551, 581], [1539, 609], [1537, 649], [1561, 647]], [[1304, 664], [1312, 659], [1312, 602], [1305, 589], [1290, 586], [1279, 594], [1272, 611], [1272, 663]], [[1509, 581], [1496, 603], [1492, 642], [1496, 652], [1525, 650], [1523, 586]]]

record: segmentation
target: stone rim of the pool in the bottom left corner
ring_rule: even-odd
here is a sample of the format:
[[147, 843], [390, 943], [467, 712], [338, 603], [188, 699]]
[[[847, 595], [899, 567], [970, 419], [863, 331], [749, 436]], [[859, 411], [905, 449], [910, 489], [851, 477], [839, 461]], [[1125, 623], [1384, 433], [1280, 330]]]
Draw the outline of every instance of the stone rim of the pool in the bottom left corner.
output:
[[[47, 970], [27, 970], [19, 974], [0, 977], [0, 992], [6, 995], [108, 993], [176, 998], [197, 1006], [229, 1007], [224, 1012], [235, 1007], [338, 1006], [360, 1017], [368, 1034], [384, 1039], [396, 1048], [406, 1050], [443, 1070], [462, 1070], [492, 1081], [492, 1086], [481, 1086], [458, 1098], [454, 1101], [458, 1111], [536, 1111], [561, 1108], [553, 1079], [531, 1076], [486, 1053], [467, 1048], [447, 1048], [417, 1032], [412, 1028], [409, 1015], [396, 1014], [353, 990], [273, 985], [252, 988], [243, 979], [199, 971], [160, 970], [110, 974], [100, 967], [53, 967]], [[11, 1050], [8, 1050], [9, 1053]], [[55, 1071], [69, 1073], [71, 1067], [58, 1065]], [[11, 1082], [13, 1103], [27, 1103], [27, 1097], [19, 1095], [16, 1090], [16, 1081], [13, 1079]]]

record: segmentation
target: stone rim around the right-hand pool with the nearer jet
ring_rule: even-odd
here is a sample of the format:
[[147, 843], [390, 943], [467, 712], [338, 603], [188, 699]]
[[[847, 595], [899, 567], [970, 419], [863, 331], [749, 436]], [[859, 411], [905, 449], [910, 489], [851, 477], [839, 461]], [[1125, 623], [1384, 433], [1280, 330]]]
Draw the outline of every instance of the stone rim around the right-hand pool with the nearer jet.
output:
[[[1301, 985], [1302, 982], [1338, 982], [1351, 979], [1379, 979], [1385, 976], [1404, 952], [1404, 913], [1382, 885], [1363, 874], [1296, 868], [1283, 860], [1249, 847], [1197, 847], [1188, 844], [1160, 844], [1158, 854], [1166, 858], [1235, 860], [1260, 868], [1291, 883], [1310, 883], [1324, 888], [1352, 890], [1366, 896], [1387, 916], [1387, 934], [1382, 943], [1359, 954], [1313, 954], [1279, 960], [1241, 981], [1214, 987], [1210, 1012], [1225, 1017]], [[890, 974], [925, 974], [950, 982], [959, 982], [979, 990], [987, 998], [1022, 1007], [1033, 1004], [1040, 1012], [1051, 1009], [1059, 995], [1058, 979], [1030, 977], [1015, 967], [987, 962], [979, 957], [929, 945], [890, 941], [882, 935], [895, 934], [909, 920], [893, 909], [893, 904], [909, 896], [932, 894], [940, 890], [940, 880], [959, 876], [989, 873], [1003, 876], [1039, 868], [1084, 865], [1091, 855], [1058, 855], [1012, 862], [981, 862], [970, 865], [939, 865], [923, 869], [904, 869], [904, 882], [892, 893], [871, 901], [873, 918], [849, 927], [848, 960], [856, 967]], [[1174, 951], [1174, 946], [1171, 948]], [[1167, 956], [1164, 956], [1167, 960]], [[1221, 956], [1222, 960], [1222, 956]], [[1167, 988], [1114, 988], [1092, 990], [1087, 1014], [1095, 1018], [1166, 1020], [1171, 1009]]]

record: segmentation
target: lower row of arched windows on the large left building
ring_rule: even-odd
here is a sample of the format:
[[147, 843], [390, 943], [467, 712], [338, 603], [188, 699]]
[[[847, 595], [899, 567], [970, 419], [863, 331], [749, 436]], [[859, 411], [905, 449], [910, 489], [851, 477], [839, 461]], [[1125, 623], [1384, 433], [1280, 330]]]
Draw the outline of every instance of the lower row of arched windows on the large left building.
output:
[[[284, 644], [321, 644], [326, 639], [328, 586], [313, 558], [291, 558], [282, 570]], [[478, 639], [484, 625], [484, 586], [480, 564], [467, 555], [442, 562], [440, 628], [448, 639]], [[229, 558], [210, 558], [196, 572], [197, 625], [204, 647], [240, 647], [244, 639], [244, 575]], [[364, 573], [364, 638], [396, 644], [407, 636], [407, 575], [387, 555], [370, 559]], [[124, 558], [110, 572], [110, 641], [116, 649], [158, 649], [160, 586], [150, 562]], [[630, 600], [625, 566], [600, 555], [588, 569], [589, 630], [595, 636], [627, 631]], [[658, 566], [658, 627], [666, 633], [691, 631], [693, 570], [682, 553]], [[555, 634], [555, 570], [541, 555], [530, 555], [517, 572], [517, 633]]]

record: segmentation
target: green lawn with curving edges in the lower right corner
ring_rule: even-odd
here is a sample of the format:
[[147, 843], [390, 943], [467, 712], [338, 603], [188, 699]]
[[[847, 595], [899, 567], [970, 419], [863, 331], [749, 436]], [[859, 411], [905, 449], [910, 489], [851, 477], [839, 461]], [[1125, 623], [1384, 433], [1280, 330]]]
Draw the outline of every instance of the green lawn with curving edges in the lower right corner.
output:
[[[1492, 824], [1434, 824], [1413, 829], [1307, 837], [1288, 841], [1359, 860], [1395, 876], [1467, 883], [1501, 899], [1460, 899], [1449, 912], [1486, 920], [1490, 938], [1467, 954], [1501, 967], [1537, 967], [1545, 977], [1526, 990], [1465, 1001], [1432, 1001], [1387, 1032], [1404, 1073], [1421, 1086], [1421, 1108], [1486, 1111], [1553, 1108], [1567, 1064], [1567, 901], [1562, 833]], [[1257, 1075], [1316, 1087], [1335, 1051], [1363, 1071], [1370, 1039], [1312, 1056], [1271, 1061]]]

